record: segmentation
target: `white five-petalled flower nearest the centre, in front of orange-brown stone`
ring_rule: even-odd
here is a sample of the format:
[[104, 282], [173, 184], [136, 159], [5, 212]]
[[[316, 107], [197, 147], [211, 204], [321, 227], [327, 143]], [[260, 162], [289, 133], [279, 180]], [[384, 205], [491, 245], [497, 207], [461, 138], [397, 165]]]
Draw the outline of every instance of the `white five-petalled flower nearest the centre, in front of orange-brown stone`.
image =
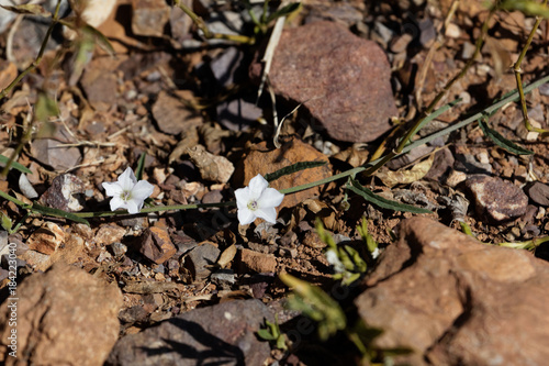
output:
[[284, 195], [267, 186], [269, 182], [258, 174], [251, 178], [248, 187], [235, 190], [240, 225], [247, 225], [257, 218], [270, 223], [277, 222], [276, 207], [282, 203]]

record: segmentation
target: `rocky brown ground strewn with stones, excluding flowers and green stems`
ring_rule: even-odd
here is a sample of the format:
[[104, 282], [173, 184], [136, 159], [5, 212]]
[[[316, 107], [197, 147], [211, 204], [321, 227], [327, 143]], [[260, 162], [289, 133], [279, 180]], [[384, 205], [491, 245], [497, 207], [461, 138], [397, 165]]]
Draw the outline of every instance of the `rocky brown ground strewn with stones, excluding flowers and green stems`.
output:
[[[184, 3], [213, 32], [254, 34], [243, 2]], [[58, 26], [36, 70], [2, 100], [4, 156], [26, 138], [31, 106], [41, 96], [58, 107], [55, 117], [36, 122], [18, 154], [31, 174], [12, 168], [0, 180], [3, 192], [24, 202], [109, 211], [102, 182], [136, 169], [142, 157], [155, 206], [232, 201], [257, 174], [300, 162], [326, 164], [270, 186], [287, 189], [360, 167], [385, 142], [389, 152], [403, 131], [396, 125], [408, 126], [461, 70], [488, 16], [473, 0], [304, 1], [284, 25], [258, 99], [268, 32], [257, 33], [255, 44], [205, 41], [187, 14], [164, 1], [122, 0], [112, 12], [109, 1], [99, 4], [97, 13], [109, 16], [94, 25], [115, 57], [99, 46], [79, 54], [85, 43], [77, 37], [70, 44], [69, 32]], [[45, 7], [53, 10], [55, 2]], [[258, 12], [262, 3], [250, 7]], [[47, 18], [0, 13], [0, 89], [34, 60], [48, 24]], [[481, 54], [439, 107], [458, 98], [460, 103], [419, 136], [463, 121], [515, 89], [509, 66], [533, 24], [520, 12], [497, 12]], [[526, 84], [547, 74], [548, 36], [544, 21], [522, 65]], [[533, 124], [547, 129], [549, 84], [526, 101]], [[547, 137], [524, 127], [516, 102], [488, 123], [534, 154], [509, 153], [474, 122], [391, 160], [374, 176], [357, 175], [374, 193], [432, 213], [372, 204], [345, 189], [346, 179], [287, 195], [274, 225], [260, 219], [239, 225], [233, 207], [96, 218], [87, 225], [25, 218], [23, 208], [0, 199], [4, 217], [22, 220], [15, 233], [0, 231], [0, 359], [366, 364], [349, 332], [321, 341], [314, 321], [288, 309], [290, 290], [279, 275], [290, 274], [329, 293], [346, 313], [347, 331], [358, 323], [382, 331], [367, 342], [373, 363], [545, 365], [547, 247], [496, 244], [549, 234]], [[341, 286], [315, 220], [339, 245], [363, 251], [357, 230], [363, 218], [381, 254], [367, 260], [359, 280]], [[460, 222], [474, 237], [461, 233]], [[257, 335], [266, 320], [280, 324], [287, 350]], [[10, 356], [14, 329], [16, 358]]]

